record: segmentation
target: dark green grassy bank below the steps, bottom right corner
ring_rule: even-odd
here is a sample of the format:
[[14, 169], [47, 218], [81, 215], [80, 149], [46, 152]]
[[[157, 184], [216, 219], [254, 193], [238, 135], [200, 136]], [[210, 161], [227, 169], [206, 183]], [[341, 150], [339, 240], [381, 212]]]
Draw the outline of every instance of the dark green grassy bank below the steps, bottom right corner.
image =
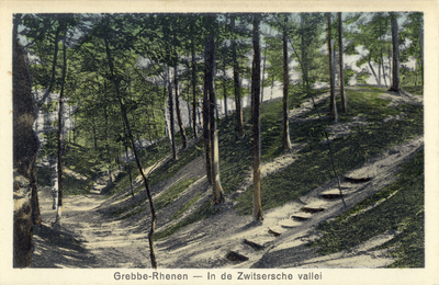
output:
[[[390, 197], [392, 193], [395, 193]], [[378, 206], [359, 213], [376, 202]], [[330, 223], [318, 226], [324, 236], [312, 242], [318, 253], [330, 254], [350, 249], [387, 229], [402, 230], [396, 238], [380, 248], [399, 246], [392, 254], [397, 258], [391, 267], [424, 266], [424, 151], [404, 163], [396, 182], [357, 204]]]

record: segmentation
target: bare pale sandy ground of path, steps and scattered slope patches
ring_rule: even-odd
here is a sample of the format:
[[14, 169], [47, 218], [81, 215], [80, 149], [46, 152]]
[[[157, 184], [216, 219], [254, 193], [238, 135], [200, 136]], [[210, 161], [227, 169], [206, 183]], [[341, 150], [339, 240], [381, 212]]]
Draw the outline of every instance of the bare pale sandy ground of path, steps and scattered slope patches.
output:
[[[389, 92], [380, 96], [390, 100], [391, 107], [398, 104], [423, 104], [421, 96], [408, 93], [403, 99]], [[327, 98], [325, 93], [316, 101]], [[290, 112], [291, 122], [303, 121], [300, 116], [311, 112], [312, 106], [307, 101]], [[404, 116], [398, 114], [384, 119], [391, 122], [404, 119]], [[317, 118], [313, 116], [306, 119]], [[349, 136], [351, 127], [365, 124], [367, 121], [357, 116], [350, 122], [329, 126], [329, 139]], [[191, 144], [195, 142], [191, 140]], [[261, 175], [282, 172], [296, 161], [304, 147], [303, 144], [294, 144], [290, 151], [266, 161], [261, 166]], [[385, 267], [396, 260], [389, 254], [396, 247], [379, 247], [398, 236], [399, 230], [389, 229], [354, 247], [326, 255], [318, 253], [318, 247], [309, 247], [308, 243], [323, 237], [324, 233], [317, 229], [319, 224], [335, 220], [394, 183], [401, 166], [423, 148], [423, 136], [393, 146], [370, 157], [362, 166], [339, 173], [344, 178], [360, 181], [350, 183], [342, 180], [339, 189], [337, 179], [331, 179], [296, 200], [264, 210], [264, 219], [259, 224], [254, 223], [251, 216], [241, 215], [236, 207], [237, 197], [251, 185], [251, 172], [247, 171], [237, 190], [226, 194], [225, 203], [215, 207], [215, 215], [206, 216], [155, 241], [158, 267]], [[167, 159], [149, 167], [146, 172], [153, 168], [159, 169]], [[184, 220], [210, 200], [211, 191], [203, 166], [203, 158], [199, 156], [175, 175], [151, 187], [155, 202], [164, 196], [165, 190], [179, 185], [183, 187], [170, 202], [156, 202], [159, 208], [156, 232], [164, 232]], [[34, 235], [34, 267], [150, 267], [147, 241], [150, 229], [149, 207], [140, 208], [145, 205], [144, 191], [134, 197], [128, 195], [128, 191], [105, 197], [100, 190], [106, 183], [105, 178], [101, 178], [90, 194], [65, 196], [60, 227], [52, 225], [56, 213], [52, 209], [50, 190], [41, 189], [38, 195], [43, 227]], [[136, 179], [135, 184], [138, 187], [142, 181]], [[362, 212], [376, 208], [380, 203]], [[130, 206], [133, 204], [136, 207]], [[117, 210], [123, 215], [119, 215]], [[354, 215], [359, 214], [351, 216]], [[234, 258], [230, 252], [239, 253], [245, 259], [239, 260], [239, 255]], [[232, 256], [232, 260], [226, 255]]]

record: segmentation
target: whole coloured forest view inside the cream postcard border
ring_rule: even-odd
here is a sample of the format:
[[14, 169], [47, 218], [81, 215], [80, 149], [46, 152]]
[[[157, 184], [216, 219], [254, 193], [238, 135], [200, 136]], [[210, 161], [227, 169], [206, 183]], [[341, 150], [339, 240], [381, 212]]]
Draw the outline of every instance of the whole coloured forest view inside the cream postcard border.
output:
[[421, 12], [13, 16], [13, 266], [425, 267]]

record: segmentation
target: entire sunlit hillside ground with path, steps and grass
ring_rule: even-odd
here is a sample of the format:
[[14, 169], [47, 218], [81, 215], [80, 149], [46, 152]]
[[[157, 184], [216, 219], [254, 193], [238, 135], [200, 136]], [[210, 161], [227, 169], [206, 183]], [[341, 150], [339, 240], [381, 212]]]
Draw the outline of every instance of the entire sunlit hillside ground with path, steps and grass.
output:
[[[178, 160], [165, 140], [145, 149], [158, 216], [158, 267], [424, 266], [423, 96], [351, 87], [349, 111], [337, 124], [326, 116], [328, 93], [313, 96], [316, 107], [311, 98], [292, 99], [286, 152], [281, 102], [261, 105], [262, 223], [249, 216], [249, 110], [241, 140], [230, 132], [232, 115], [218, 121], [224, 204], [210, 206], [202, 138], [190, 139]], [[89, 193], [65, 197], [60, 227], [52, 225], [50, 190], [41, 189], [43, 227], [34, 236], [34, 267], [150, 266], [142, 180], [133, 169], [132, 195], [127, 170], [111, 173], [112, 183], [101, 175], [87, 182], [94, 183]], [[72, 170], [65, 174], [88, 180]]]

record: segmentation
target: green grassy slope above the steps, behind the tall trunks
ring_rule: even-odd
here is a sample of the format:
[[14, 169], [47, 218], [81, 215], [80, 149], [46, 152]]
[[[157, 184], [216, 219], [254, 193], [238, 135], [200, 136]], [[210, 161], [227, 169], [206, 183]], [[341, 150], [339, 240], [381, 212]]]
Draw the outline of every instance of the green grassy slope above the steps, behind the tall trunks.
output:
[[[418, 106], [401, 105], [389, 109], [390, 101], [378, 99], [384, 90], [373, 88], [370, 91], [348, 91], [349, 113], [340, 115], [340, 122], [346, 123], [352, 116], [364, 116], [369, 126], [352, 128], [352, 135], [347, 138], [335, 139], [330, 147], [334, 151], [338, 173], [353, 169], [371, 156], [389, 147], [409, 140], [423, 134], [423, 109]], [[301, 99], [303, 101], [304, 99]], [[292, 99], [294, 102], [294, 98]], [[283, 152], [281, 136], [281, 101], [274, 101], [261, 106], [261, 134], [262, 134], [262, 161], [268, 161]], [[338, 104], [339, 105], [339, 104]], [[320, 114], [328, 113], [328, 102], [318, 104]], [[316, 116], [317, 110], [304, 116]], [[245, 117], [249, 119], [249, 110]], [[407, 114], [405, 121], [382, 123], [381, 119], [401, 112]], [[324, 119], [324, 126], [330, 125], [329, 119]], [[236, 140], [234, 132], [234, 117], [229, 116], [219, 121], [219, 153], [221, 174], [225, 192], [236, 190], [244, 180], [245, 172], [251, 166], [250, 125], [246, 121], [246, 136]], [[306, 194], [314, 187], [334, 178], [329, 161], [328, 146], [319, 144], [324, 139], [319, 121], [309, 123], [291, 124], [291, 139], [293, 144], [307, 144], [301, 157], [284, 171], [262, 180], [262, 205], [264, 209], [284, 204], [288, 201]], [[241, 214], [251, 213], [250, 187], [245, 195], [238, 198], [238, 208]], [[216, 212], [209, 207], [209, 201], [196, 213], [185, 220], [173, 225], [165, 232], [159, 232], [156, 239], [167, 237], [179, 228], [201, 220]]]

